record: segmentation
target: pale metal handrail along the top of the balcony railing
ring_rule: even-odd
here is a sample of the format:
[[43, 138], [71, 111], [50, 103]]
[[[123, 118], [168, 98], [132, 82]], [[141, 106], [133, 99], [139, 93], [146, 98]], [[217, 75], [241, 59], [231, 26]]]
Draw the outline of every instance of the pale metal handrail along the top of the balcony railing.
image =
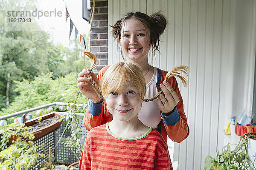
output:
[[[38, 107], [35, 107], [35, 108], [30, 108], [30, 109], [26, 109], [26, 110], [23, 110], [23, 111], [18, 111], [18, 112], [15, 112], [15, 113], [10, 113], [10, 114], [7, 114], [7, 115], [3, 115], [3, 116], [0, 116], [0, 120], [3, 120], [3, 119], [8, 119], [8, 118], [11, 118], [11, 117], [14, 117], [14, 116], [19, 116], [19, 115], [22, 115], [24, 113], [29, 113], [29, 112], [32, 112], [32, 111], [36, 111], [38, 109], [43, 109], [43, 108], [47, 108], [49, 106], [53, 106], [53, 105], [73, 105], [73, 103], [66, 103], [66, 102], [53, 102], [53, 103], [49, 103], [49, 104], [46, 104], [46, 105], [41, 105], [41, 106], [38, 106]], [[80, 107], [83, 107], [84, 104], [76, 104], [76, 106], [80, 106]]]

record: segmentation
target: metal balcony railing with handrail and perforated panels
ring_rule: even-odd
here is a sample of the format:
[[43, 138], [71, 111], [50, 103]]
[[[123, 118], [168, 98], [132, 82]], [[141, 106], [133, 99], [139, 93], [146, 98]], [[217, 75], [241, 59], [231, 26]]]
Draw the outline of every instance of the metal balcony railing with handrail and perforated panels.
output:
[[[18, 111], [15, 113], [11, 113], [8, 115], [0, 116], [0, 120], [3, 119], [8, 119], [14, 116], [20, 116], [23, 115], [24, 113], [29, 113], [32, 111], [36, 111], [42, 108], [47, 108], [53, 105], [70, 105], [70, 103], [65, 103], [65, 102], [53, 102], [49, 103], [47, 105], [41, 105], [35, 108], [30, 108], [26, 109], [23, 111]], [[71, 104], [72, 105], [72, 104]], [[83, 107], [83, 104], [76, 104], [76, 106]], [[66, 112], [51, 112], [51, 113], [57, 113], [60, 115], [67, 114]], [[84, 113], [75, 113], [76, 115], [79, 116], [79, 119], [77, 120], [78, 124], [80, 127], [82, 127], [82, 130], [80, 132], [81, 136], [83, 137], [82, 143], [84, 143], [85, 136], [88, 133], [88, 130], [83, 125], [83, 117]], [[64, 119], [60, 125], [60, 127], [57, 130], [53, 130], [52, 132], [46, 134], [45, 136], [42, 136], [41, 138], [35, 140], [35, 145], [38, 146], [43, 146], [45, 152], [49, 153], [49, 147], [51, 147], [51, 153], [52, 153], [52, 161], [55, 163], [61, 163], [61, 164], [72, 164], [73, 162], [78, 161], [76, 155], [79, 156], [80, 158], [80, 153], [77, 151], [76, 147], [66, 147], [64, 144], [62, 144], [60, 139], [64, 139], [68, 136], [71, 136], [71, 129], [69, 128], [70, 124]], [[42, 149], [38, 150], [38, 153], [44, 153]], [[44, 161], [48, 161], [46, 158], [40, 159], [35, 167], [38, 167], [40, 164], [42, 164]], [[32, 167], [34, 170], [35, 167]]]

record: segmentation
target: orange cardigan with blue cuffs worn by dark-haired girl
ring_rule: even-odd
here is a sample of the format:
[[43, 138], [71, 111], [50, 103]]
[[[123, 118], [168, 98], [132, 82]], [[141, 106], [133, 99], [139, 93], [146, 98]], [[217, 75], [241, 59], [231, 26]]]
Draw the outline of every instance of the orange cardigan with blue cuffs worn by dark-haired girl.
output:
[[[98, 79], [100, 80], [103, 76], [103, 74], [106, 72], [106, 70], [109, 68], [110, 66], [105, 66], [104, 68], [102, 68], [99, 71], [98, 74]], [[163, 83], [163, 81], [165, 80], [166, 74], [168, 73], [167, 71], [163, 71], [160, 70], [159, 68], [157, 68], [158, 70], [158, 81], [157, 81], [157, 91], [160, 91], [160, 83]], [[179, 96], [180, 101], [177, 103], [176, 105], [176, 109], [177, 112], [170, 114], [169, 116], [163, 118], [164, 120], [166, 120], [168, 122], [168, 120], [172, 119], [177, 119], [178, 121], [175, 122], [175, 125], [166, 125], [166, 121], [163, 121], [163, 119], [160, 122], [160, 133], [163, 136], [163, 139], [166, 141], [167, 143], [167, 135], [169, 136], [170, 139], [172, 139], [174, 142], [182, 142], [184, 139], [187, 138], [187, 136], [189, 136], [189, 126], [187, 124], [187, 118], [186, 115], [184, 113], [184, 109], [183, 109], [183, 100], [182, 97], [180, 95], [180, 90], [178, 88], [178, 84], [177, 81], [175, 79], [175, 77], [171, 77], [168, 82], [170, 83], [170, 85], [172, 86], [172, 88], [175, 90], [176, 94]], [[174, 118], [175, 116], [175, 118]], [[178, 116], [178, 118], [177, 118]], [[107, 105], [106, 105], [106, 101], [103, 101], [102, 104], [102, 113], [100, 113], [97, 116], [93, 116], [92, 113], [89, 112], [89, 108], [87, 108], [86, 113], [84, 114], [84, 126], [86, 127], [87, 130], [91, 130], [93, 127], [97, 127], [100, 125], [103, 125], [107, 122], [110, 122], [113, 120], [113, 116], [112, 114], [108, 111], [107, 109]]]

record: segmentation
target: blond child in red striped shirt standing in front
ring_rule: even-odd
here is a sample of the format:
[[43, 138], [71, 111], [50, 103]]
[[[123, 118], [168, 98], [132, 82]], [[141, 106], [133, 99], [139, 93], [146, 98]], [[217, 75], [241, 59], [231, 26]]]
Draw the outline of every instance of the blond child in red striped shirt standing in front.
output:
[[87, 134], [79, 170], [172, 170], [163, 136], [137, 117], [146, 89], [140, 68], [129, 62], [111, 65], [99, 89], [113, 120]]

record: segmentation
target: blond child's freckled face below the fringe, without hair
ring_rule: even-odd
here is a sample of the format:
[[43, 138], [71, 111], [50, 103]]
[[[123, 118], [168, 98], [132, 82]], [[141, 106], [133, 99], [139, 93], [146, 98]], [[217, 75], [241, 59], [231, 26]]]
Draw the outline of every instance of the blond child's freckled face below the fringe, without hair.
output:
[[142, 99], [134, 84], [123, 87], [122, 91], [108, 94], [106, 99], [108, 111], [117, 120], [127, 122], [139, 113]]

